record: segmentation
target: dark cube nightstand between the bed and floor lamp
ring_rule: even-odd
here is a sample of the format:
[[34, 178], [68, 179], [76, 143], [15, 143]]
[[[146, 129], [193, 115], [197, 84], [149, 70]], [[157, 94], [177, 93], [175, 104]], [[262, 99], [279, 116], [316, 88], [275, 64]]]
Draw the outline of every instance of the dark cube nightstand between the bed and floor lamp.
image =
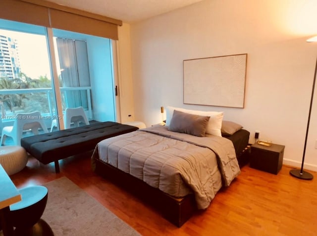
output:
[[250, 167], [277, 175], [283, 164], [284, 145], [251, 146]]

